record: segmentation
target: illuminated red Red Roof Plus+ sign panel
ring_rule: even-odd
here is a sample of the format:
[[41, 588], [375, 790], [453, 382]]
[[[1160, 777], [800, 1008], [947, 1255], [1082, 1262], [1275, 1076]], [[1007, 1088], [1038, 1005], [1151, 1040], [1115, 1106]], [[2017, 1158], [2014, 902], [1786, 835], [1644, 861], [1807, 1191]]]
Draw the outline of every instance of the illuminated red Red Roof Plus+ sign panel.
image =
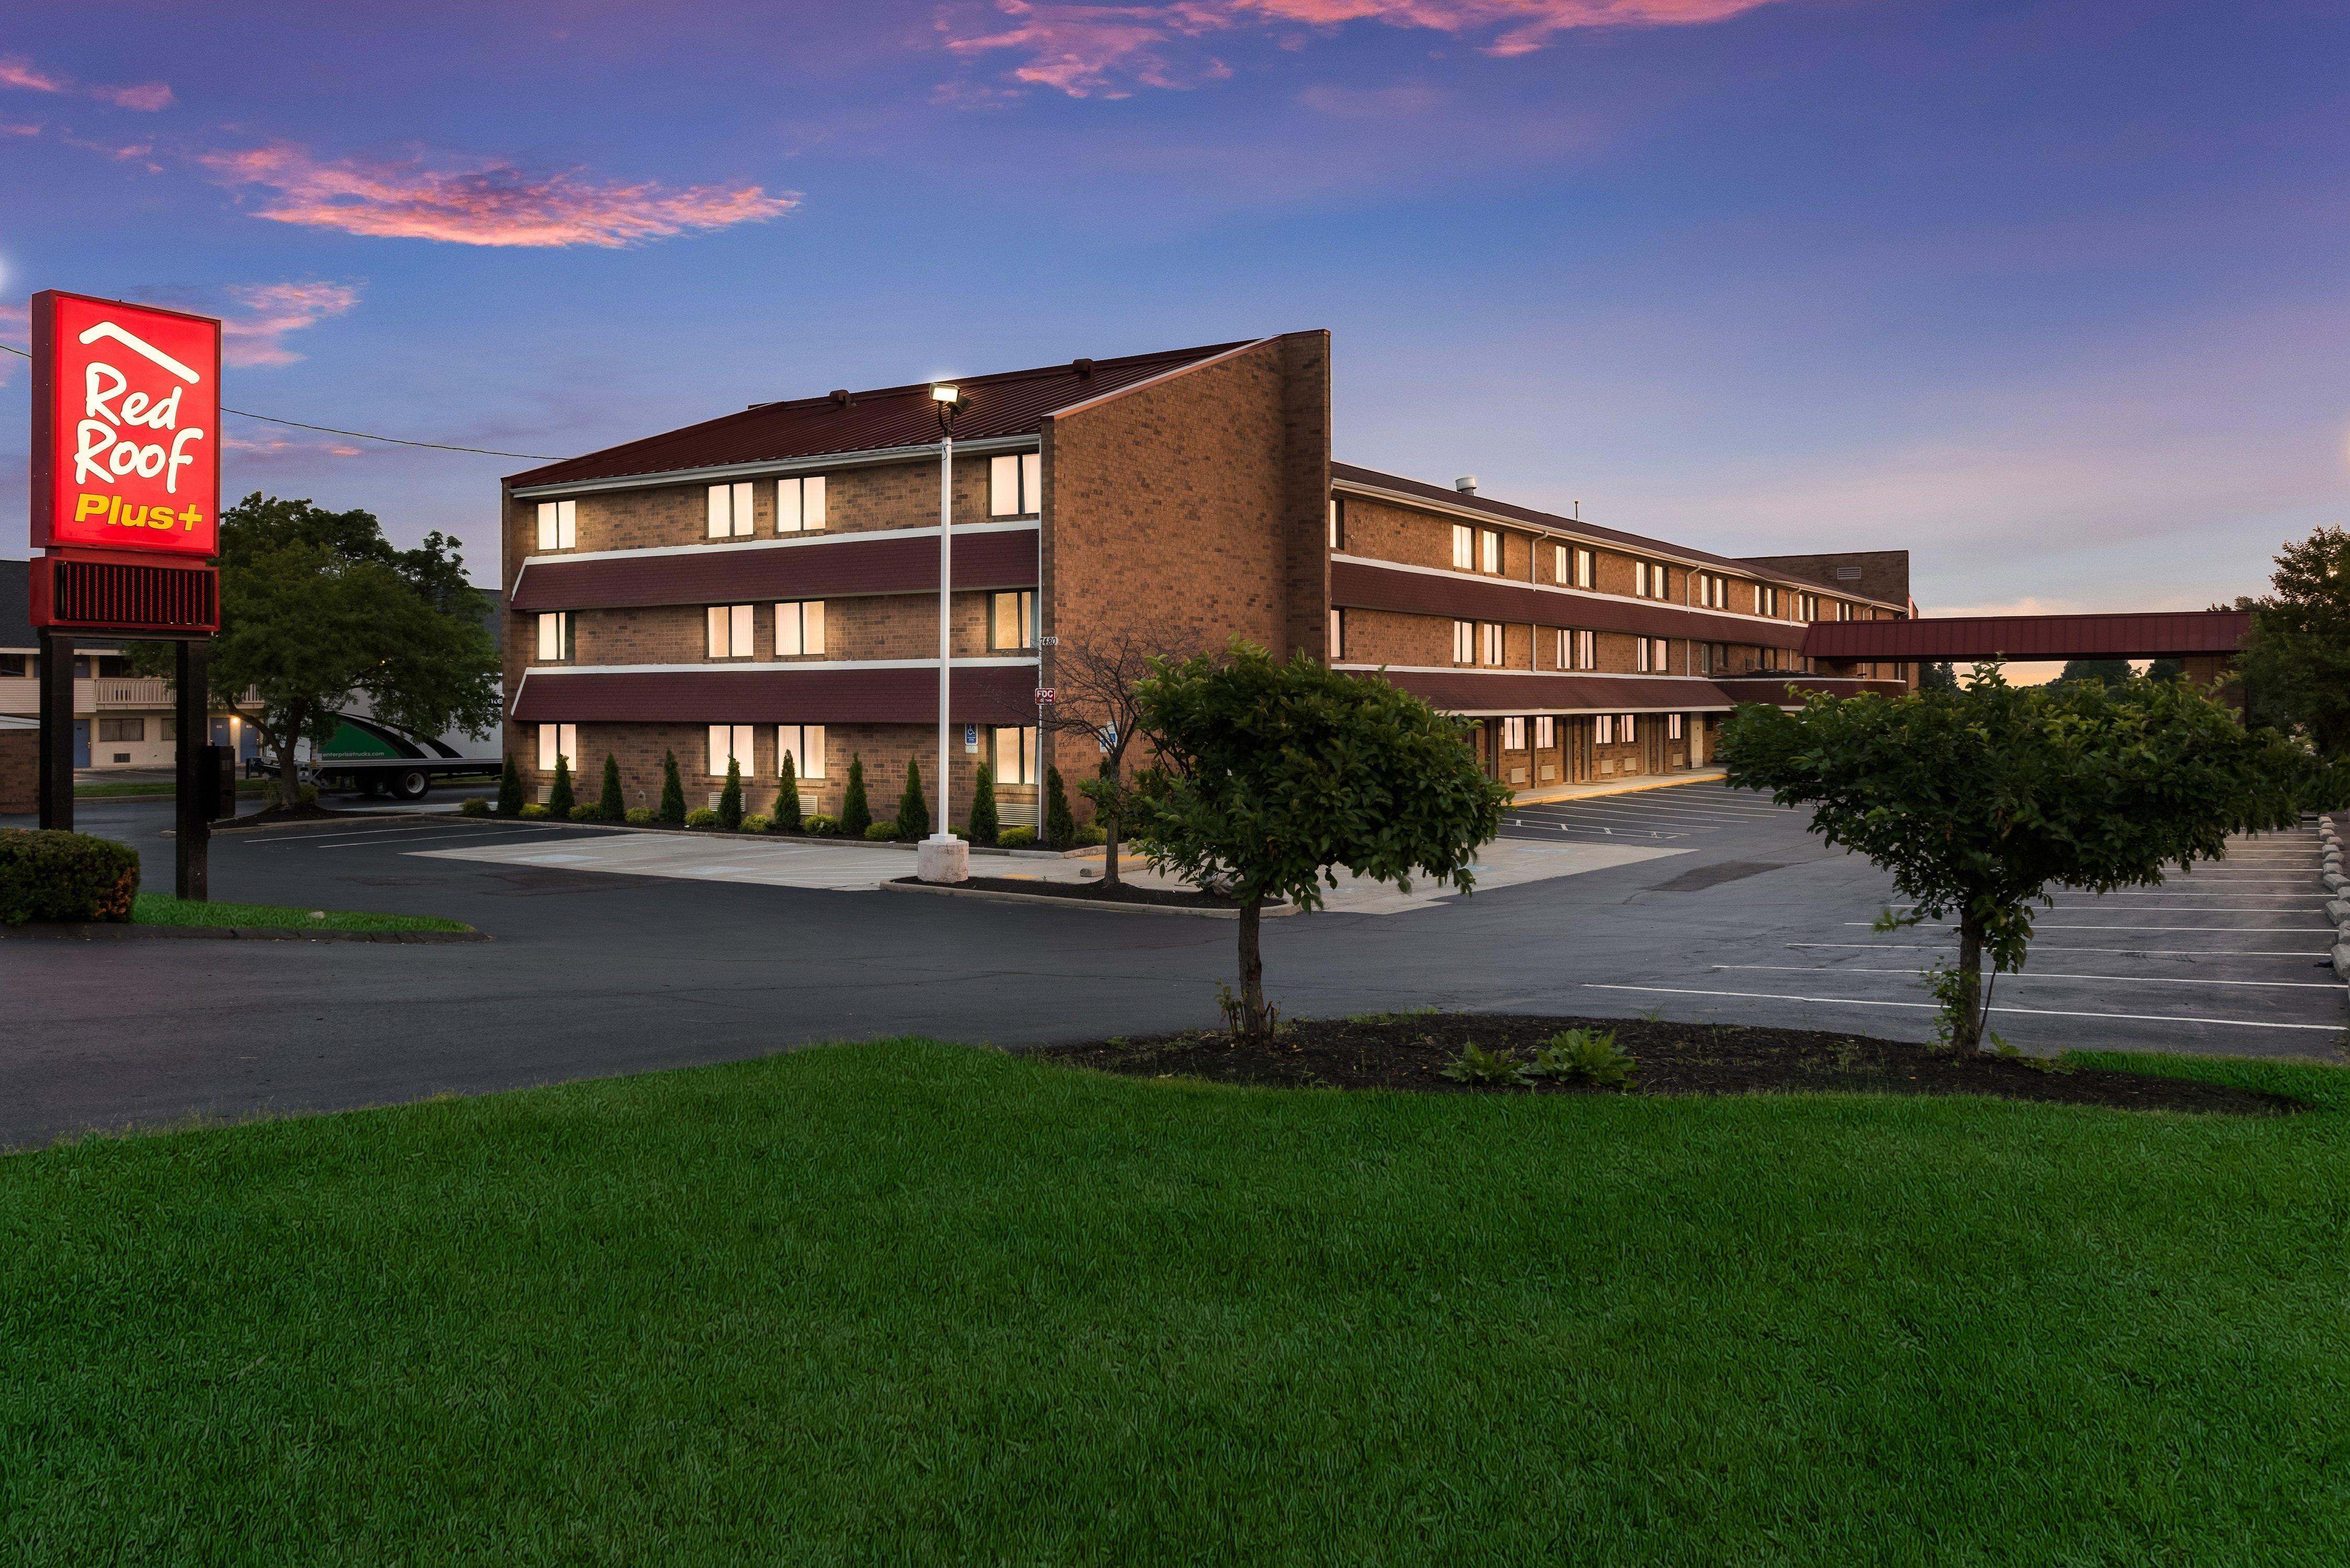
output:
[[221, 322], [33, 296], [33, 548], [219, 555]]

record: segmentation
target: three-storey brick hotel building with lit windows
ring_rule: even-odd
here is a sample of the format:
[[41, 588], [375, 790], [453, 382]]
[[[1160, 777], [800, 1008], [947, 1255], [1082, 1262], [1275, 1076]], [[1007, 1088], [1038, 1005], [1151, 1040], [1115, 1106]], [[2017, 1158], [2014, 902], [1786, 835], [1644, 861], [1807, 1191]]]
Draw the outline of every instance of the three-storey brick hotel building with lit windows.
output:
[[[1908, 609], [1908, 552], [1732, 559], [1335, 463], [1330, 336], [1292, 331], [959, 378], [954, 816], [975, 766], [1003, 820], [1097, 748], [1039, 741], [1058, 649], [1121, 628], [1231, 635], [1386, 672], [1478, 719], [1504, 783], [1701, 766], [1744, 701], [1904, 691], [1906, 665], [1805, 668], [1810, 621]], [[837, 813], [851, 755], [877, 816], [935, 769], [938, 425], [928, 383], [754, 404], [505, 482], [505, 745], [627, 802], [674, 752], [689, 804], [740, 762], [750, 811], [794, 757]], [[935, 809], [935, 785], [933, 785]], [[1083, 804], [1079, 802], [1083, 813]]]

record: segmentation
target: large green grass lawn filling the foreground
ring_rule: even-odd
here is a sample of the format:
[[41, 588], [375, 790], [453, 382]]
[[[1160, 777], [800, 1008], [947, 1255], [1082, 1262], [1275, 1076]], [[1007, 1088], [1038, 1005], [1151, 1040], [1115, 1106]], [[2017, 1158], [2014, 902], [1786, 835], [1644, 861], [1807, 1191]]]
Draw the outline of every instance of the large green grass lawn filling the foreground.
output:
[[2350, 1072], [2160, 1067], [2322, 1110], [879, 1041], [16, 1154], [0, 1556], [2350, 1561]]

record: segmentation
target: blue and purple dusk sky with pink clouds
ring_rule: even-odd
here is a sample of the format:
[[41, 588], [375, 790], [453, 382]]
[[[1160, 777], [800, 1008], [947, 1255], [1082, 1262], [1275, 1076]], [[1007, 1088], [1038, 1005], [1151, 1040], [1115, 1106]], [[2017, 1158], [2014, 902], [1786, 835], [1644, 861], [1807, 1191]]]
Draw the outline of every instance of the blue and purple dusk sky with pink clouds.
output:
[[[569, 456], [1328, 327], [1342, 461], [2202, 609], [2350, 512], [2343, 59], [2341, 0], [19, 7], [0, 341], [200, 308], [230, 407]], [[489, 581], [529, 465], [230, 418], [223, 487]]]

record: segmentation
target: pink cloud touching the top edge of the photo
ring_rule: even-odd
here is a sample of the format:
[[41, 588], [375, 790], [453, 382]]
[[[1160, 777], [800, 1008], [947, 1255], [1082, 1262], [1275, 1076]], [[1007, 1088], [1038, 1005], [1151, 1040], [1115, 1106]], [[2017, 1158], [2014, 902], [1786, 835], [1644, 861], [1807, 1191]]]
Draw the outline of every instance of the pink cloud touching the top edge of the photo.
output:
[[1191, 87], [1229, 75], [1222, 61], [1184, 68], [1166, 45], [1250, 26], [1335, 28], [1377, 21], [1455, 38], [1483, 38], [1485, 54], [1532, 54], [1577, 28], [1671, 28], [1725, 21], [1774, 0], [1159, 0], [1152, 5], [1072, 5], [996, 0], [1010, 21], [992, 31], [942, 14], [947, 49], [964, 56], [1018, 49], [1027, 63], [1013, 80], [1074, 99], [1126, 96], [1140, 87]]

